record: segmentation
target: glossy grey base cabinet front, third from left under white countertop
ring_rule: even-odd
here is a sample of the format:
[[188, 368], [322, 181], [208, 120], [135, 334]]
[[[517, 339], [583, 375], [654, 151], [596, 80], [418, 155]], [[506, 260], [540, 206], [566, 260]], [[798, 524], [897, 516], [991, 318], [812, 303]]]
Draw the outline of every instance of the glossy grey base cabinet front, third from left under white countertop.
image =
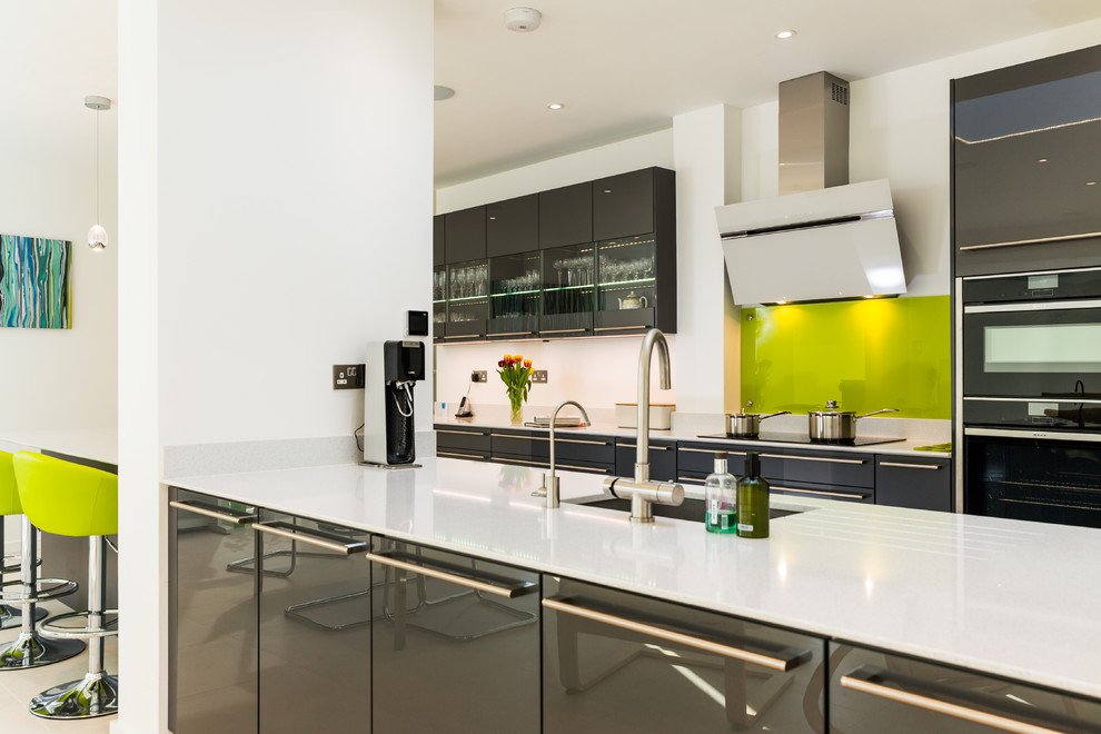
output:
[[387, 538], [375, 548], [375, 734], [538, 734], [538, 575]]

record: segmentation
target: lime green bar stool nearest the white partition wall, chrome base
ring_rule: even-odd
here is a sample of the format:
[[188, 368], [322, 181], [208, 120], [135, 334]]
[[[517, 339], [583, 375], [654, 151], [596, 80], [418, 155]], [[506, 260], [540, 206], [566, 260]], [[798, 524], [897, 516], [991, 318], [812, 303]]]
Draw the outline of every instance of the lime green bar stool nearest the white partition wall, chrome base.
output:
[[[119, 532], [119, 480], [113, 474], [41, 454], [14, 455], [16, 485], [23, 513], [46, 533], [88, 538], [87, 612], [71, 612], [39, 623], [39, 633], [59, 642], [88, 641], [88, 672], [79, 681], [56, 685], [34, 696], [30, 711], [43, 718], [88, 718], [119, 710], [118, 677], [103, 668], [103, 637], [118, 634], [118, 609], [107, 603], [107, 536]], [[107, 616], [115, 618], [108, 621]], [[85, 618], [83, 627], [65, 626]]]

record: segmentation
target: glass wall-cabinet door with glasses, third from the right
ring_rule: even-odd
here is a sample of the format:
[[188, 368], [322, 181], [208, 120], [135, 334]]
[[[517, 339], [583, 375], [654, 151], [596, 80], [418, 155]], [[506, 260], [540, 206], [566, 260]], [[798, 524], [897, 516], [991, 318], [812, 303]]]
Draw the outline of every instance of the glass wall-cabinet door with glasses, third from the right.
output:
[[489, 258], [489, 336], [533, 337], [539, 330], [542, 254]]

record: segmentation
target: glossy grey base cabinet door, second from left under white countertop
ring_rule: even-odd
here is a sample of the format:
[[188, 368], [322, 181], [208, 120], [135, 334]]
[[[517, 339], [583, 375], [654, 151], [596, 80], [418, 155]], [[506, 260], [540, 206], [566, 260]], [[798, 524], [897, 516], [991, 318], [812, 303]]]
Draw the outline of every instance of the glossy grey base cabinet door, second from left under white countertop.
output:
[[368, 536], [268, 510], [261, 520], [260, 732], [368, 734]]

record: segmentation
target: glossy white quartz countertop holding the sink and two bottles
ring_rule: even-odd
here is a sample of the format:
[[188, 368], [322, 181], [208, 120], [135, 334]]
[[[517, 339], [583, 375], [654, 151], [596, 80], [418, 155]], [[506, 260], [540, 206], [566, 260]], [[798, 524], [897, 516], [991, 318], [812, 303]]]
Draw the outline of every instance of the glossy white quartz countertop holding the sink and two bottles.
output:
[[[774, 497], [767, 539], [530, 496], [457, 459], [170, 480], [186, 489], [1101, 697], [1101, 532]], [[602, 492], [563, 472], [563, 499]]]

